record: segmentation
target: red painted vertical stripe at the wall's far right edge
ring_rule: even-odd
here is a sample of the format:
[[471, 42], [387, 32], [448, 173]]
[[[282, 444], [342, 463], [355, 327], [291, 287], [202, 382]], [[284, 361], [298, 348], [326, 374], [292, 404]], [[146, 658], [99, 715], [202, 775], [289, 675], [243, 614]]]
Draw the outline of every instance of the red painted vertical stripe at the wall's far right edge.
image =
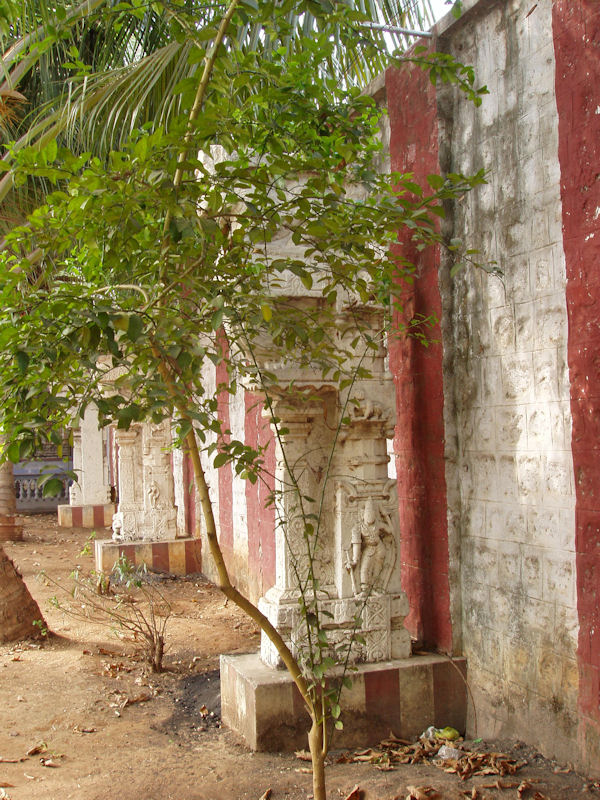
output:
[[600, 4], [553, 5], [573, 417], [580, 749], [600, 772]]

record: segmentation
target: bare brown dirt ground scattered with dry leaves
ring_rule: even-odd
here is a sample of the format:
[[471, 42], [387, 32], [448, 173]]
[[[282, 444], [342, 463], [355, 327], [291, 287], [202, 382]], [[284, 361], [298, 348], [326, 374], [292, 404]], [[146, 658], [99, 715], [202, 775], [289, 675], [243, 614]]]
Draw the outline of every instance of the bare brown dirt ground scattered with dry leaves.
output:
[[[252, 753], [220, 725], [220, 653], [255, 651], [254, 625], [201, 576], [160, 581], [173, 617], [167, 670], [152, 674], [131, 644], [110, 630], [51, 607], [69, 585], [89, 531], [59, 528], [53, 516], [23, 517], [23, 542], [6, 550], [38, 601], [52, 635], [41, 643], [0, 645], [0, 799], [307, 800], [311, 775], [293, 754]], [[346, 724], [351, 724], [347, 721]], [[40, 752], [32, 752], [39, 745]], [[515, 775], [461, 781], [430, 760], [391, 770], [340, 759], [328, 767], [331, 800], [599, 798], [600, 787], [518, 743], [480, 742], [526, 761]], [[31, 755], [27, 755], [31, 753]], [[380, 765], [381, 766], [381, 765]], [[500, 786], [494, 787], [496, 781]], [[520, 787], [520, 788], [519, 788]], [[268, 790], [271, 791], [269, 795]], [[433, 790], [437, 792], [434, 794]], [[536, 794], [537, 793], [537, 794]]]

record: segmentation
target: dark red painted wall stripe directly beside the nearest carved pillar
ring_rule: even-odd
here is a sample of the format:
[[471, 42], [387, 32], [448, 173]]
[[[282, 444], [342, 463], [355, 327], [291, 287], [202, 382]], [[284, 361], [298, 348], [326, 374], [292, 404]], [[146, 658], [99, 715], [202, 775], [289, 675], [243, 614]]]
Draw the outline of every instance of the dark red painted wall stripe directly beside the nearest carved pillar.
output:
[[[386, 91], [391, 168], [414, 173], [416, 182], [426, 188], [426, 176], [439, 172], [435, 88], [427, 73], [407, 66], [387, 71]], [[418, 271], [414, 284], [406, 286], [404, 309], [397, 321], [410, 320], [415, 314], [435, 314], [439, 319], [439, 252], [417, 253], [409, 241], [400, 241], [398, 252]], [[439, 325], [428, 335], [440, 342]], [[402, 584], [410, 603], [407, 627], [426, 646], [450, 652], [442, 346], [424, 347], [413, 339], [397, 337], [391, 339], [389, 351], [396, 382], [394, 451]]]

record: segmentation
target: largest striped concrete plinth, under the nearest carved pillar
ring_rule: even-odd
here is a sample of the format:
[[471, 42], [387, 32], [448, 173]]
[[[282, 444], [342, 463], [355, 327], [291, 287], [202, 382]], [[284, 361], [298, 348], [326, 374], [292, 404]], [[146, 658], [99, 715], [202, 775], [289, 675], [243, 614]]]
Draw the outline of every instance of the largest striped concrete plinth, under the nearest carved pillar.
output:
[[[389, 736], [418, 736], [430, 725], [464, 732], [467, 716], [464, 658], [427, 654], [362, 664], [348, 672], [342, 694], [344, 729], [333, 747], [368, 747]], [[267, 667], [258, 654], [221, 656], [221, 716], [251, 750], [307, 749], [309, 717], [287, 671]]]

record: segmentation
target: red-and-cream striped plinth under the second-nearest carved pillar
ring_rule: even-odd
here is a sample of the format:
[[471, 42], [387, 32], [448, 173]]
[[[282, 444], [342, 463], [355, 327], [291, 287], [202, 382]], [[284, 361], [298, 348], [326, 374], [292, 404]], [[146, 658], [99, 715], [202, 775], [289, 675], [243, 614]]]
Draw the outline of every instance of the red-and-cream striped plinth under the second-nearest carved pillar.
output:
[[135, 566], [145, 564], [149, 570], [187, 575], [202, 568], [200, 539], [168, 539], [162, 542], [115, 542], [97, 539], [95, 542], [96, 569], [110, 572], [115, 561], [125, 555]]

